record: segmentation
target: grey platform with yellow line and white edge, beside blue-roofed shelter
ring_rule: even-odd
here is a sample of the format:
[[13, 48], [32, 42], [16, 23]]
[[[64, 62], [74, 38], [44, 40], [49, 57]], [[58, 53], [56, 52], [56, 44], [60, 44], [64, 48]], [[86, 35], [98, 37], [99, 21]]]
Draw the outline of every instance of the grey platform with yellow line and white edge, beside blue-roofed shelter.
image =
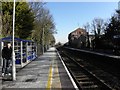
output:
[[16, 73], [16, 81], [2, 81], [3, 90], [76, 90], [76, 85], [54, 47]]

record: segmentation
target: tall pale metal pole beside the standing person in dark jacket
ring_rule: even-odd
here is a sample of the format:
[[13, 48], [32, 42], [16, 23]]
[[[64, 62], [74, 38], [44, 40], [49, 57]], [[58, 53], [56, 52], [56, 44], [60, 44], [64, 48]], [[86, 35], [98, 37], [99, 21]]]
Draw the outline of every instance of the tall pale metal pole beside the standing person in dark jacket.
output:
[[13, 47], [12, 47], [12, 80], [16, 80], [16, 67], [15, 67], [15, 51], [14, 51], [14, 30], [15, 29], [15, 0], [14, 0], [14, 5], [13, 5], [13, 37], [12, 37], [12, 42], [13, 42]]

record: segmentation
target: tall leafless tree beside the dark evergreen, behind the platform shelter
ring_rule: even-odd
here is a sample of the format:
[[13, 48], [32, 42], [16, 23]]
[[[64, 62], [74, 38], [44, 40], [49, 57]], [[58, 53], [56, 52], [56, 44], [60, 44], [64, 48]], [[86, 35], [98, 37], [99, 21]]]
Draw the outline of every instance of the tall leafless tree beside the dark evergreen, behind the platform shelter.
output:
[[[43, 2], [31, 2], [30, 7], [35, 13], [35, 28], [32, 38], [38, 43], [48, 44], [51, 34], [55, 31], [55, 24], [50, 11], [44, 7]], [[44, 35], [43, 35], [44, 34]], [[43, 37], [44, 36], [44, 37]]]

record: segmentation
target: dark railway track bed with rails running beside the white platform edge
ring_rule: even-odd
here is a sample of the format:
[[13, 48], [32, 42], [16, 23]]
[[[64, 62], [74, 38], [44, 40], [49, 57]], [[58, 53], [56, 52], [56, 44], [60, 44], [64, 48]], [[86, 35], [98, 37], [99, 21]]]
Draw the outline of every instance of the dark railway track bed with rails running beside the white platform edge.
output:
[[119, 90], [116, 77], [64, 51], [59, 51], [76, 84], [81, 90]]

